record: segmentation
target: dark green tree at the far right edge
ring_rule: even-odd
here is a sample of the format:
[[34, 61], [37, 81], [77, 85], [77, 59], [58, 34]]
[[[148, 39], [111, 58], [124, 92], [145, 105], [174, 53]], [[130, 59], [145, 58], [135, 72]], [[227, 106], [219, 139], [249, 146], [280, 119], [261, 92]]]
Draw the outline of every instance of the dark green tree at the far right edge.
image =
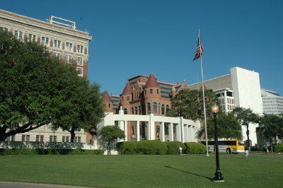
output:
[[260, 117], [259, 125], [258, 131], [270, 141], [271, 151], [273, 152], [273, 139], [275, 143], [277, 143], [277, 136], [279, 139], [282, 138], [282, 115], [263, 114], [263, 116]]

